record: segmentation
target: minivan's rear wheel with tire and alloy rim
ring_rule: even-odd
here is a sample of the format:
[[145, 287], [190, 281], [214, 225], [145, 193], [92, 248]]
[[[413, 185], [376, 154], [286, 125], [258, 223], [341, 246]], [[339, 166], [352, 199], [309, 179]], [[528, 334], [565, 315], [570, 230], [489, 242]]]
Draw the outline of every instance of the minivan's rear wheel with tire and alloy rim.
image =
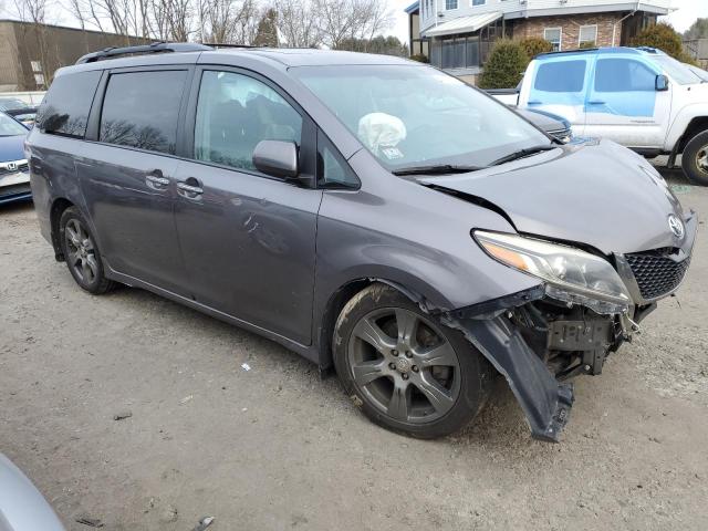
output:
[[115, 282], [103, 274], [98, 246], [76, 207], [69, 207], [62, 212], [59, 241], [69, 272], [83, 290], [100, 295], [115, 287]]

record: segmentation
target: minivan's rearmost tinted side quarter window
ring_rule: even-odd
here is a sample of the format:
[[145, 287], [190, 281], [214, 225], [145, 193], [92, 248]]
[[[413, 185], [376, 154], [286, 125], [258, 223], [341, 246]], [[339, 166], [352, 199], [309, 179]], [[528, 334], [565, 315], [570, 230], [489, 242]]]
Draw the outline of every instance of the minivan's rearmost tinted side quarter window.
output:
[[37, 113], [44, 133], [83, 138], [101, 71], [60, 75], [50, 86]]

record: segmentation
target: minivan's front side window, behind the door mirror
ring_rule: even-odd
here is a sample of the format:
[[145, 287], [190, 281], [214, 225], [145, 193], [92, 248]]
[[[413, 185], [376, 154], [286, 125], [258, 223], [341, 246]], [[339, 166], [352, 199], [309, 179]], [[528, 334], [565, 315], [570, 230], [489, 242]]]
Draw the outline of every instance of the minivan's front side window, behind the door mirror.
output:
[[253, 150], [261, 140], [300, 145], [302, 117], [267, 84], [243, 74], [208, 71], [201, 76], [195, 158], [256, 170]]

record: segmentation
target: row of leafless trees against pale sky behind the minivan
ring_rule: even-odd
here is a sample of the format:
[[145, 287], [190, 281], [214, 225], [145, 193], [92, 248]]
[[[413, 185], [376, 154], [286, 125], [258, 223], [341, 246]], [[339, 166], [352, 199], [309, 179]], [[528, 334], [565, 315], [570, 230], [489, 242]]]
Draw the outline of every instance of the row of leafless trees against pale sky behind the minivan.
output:
[[[53, 0], [12, 0], [41, 15]], [[391, 25], [386, 0], [59, 0], [82, 28], [124, 35], [251, 44], [269, 11], [290, 48], [371, 42]], [[266, 2], [269, 2], [268, 4]], [[273, 2], [273, 3], [270, 3]], [[27, 6], [24, 6], [27, 4]], [[32, 17], [32, 14], [28, 14]], [[126, 44], [129, 44], [126, 38]]]

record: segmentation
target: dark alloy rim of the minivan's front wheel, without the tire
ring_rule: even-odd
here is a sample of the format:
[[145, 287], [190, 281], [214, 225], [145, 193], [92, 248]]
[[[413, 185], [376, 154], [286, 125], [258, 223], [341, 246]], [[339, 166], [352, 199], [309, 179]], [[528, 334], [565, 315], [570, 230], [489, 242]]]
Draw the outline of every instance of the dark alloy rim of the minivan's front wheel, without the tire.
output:
[[356, 323], [347, 346], [354, 384], [391, 418], [429, 423], [457, 402], [457, 354], [430, 320], [400, 308], [378, 309]]

